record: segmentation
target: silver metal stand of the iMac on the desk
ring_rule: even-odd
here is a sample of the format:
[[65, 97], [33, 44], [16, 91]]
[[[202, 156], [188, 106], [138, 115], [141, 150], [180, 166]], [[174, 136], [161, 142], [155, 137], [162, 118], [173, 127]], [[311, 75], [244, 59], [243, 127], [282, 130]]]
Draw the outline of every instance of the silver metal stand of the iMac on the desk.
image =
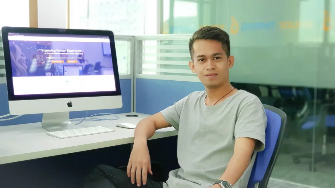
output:
[[49, 132], [84, 128], [70, 121], [70, 112], [44, 113], [42, 127]]

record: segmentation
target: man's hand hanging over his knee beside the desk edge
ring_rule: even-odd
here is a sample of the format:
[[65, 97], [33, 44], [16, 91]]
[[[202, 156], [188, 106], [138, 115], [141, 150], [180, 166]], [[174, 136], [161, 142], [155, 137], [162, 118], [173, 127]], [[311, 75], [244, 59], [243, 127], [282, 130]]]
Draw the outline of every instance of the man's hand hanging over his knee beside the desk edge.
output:
[[152, 175], [147, 140], [135, 140], [128, 162], [127, 175], [131, 178], [132, 184], [135, 184], [136, 178], [139, 187], [141, 186], [141, 179], [143, 185], [146, 184], [148, 172]]

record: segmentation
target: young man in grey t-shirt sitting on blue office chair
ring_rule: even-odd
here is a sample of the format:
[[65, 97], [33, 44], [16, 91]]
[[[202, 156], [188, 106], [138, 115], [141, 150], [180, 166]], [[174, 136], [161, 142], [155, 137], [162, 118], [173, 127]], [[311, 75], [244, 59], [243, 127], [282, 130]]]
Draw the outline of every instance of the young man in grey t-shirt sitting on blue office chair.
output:
[[[228, 34], [203, 27], [189, 41], [190, 69], [205, 86], [174, 105], [141, 120], [127, 173], [98, 166], [85, 180], [86, 188], [246, 188], [256, 152], [265, 147], [267, 119], [260, 100], [230, 85]], [[147, 139], [155, 130], [178, 130], [180, 169], [166, 183], [147, 179], [151, 172]], [[128, 177], [127, 177], [128, 176]]]

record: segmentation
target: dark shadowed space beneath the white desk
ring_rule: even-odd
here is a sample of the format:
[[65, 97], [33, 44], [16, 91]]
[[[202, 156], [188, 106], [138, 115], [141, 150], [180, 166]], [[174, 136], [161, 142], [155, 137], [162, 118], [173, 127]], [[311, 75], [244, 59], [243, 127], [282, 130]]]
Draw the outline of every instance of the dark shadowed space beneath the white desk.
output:
[[[162, 164], [167, 172], [180, 168], [176, 147], [177, 136], [148, 140], [151, 161]], [[130, 144], [125, 144], [3, 164], [0, 165], [0, 188], [82, 188], [85, 176], [94, 166], [125, 166], [130, 151]]]

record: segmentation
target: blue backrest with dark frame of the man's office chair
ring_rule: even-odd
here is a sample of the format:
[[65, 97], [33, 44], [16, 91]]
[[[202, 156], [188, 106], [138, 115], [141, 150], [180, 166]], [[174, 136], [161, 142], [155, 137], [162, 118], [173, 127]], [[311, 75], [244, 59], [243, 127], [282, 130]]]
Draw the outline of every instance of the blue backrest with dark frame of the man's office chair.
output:
[[287, 116], [282, 110], [263, 104], [267, 116], [265, 149], [257, 153], [248, 188], [266, 188], [276, 162]]

